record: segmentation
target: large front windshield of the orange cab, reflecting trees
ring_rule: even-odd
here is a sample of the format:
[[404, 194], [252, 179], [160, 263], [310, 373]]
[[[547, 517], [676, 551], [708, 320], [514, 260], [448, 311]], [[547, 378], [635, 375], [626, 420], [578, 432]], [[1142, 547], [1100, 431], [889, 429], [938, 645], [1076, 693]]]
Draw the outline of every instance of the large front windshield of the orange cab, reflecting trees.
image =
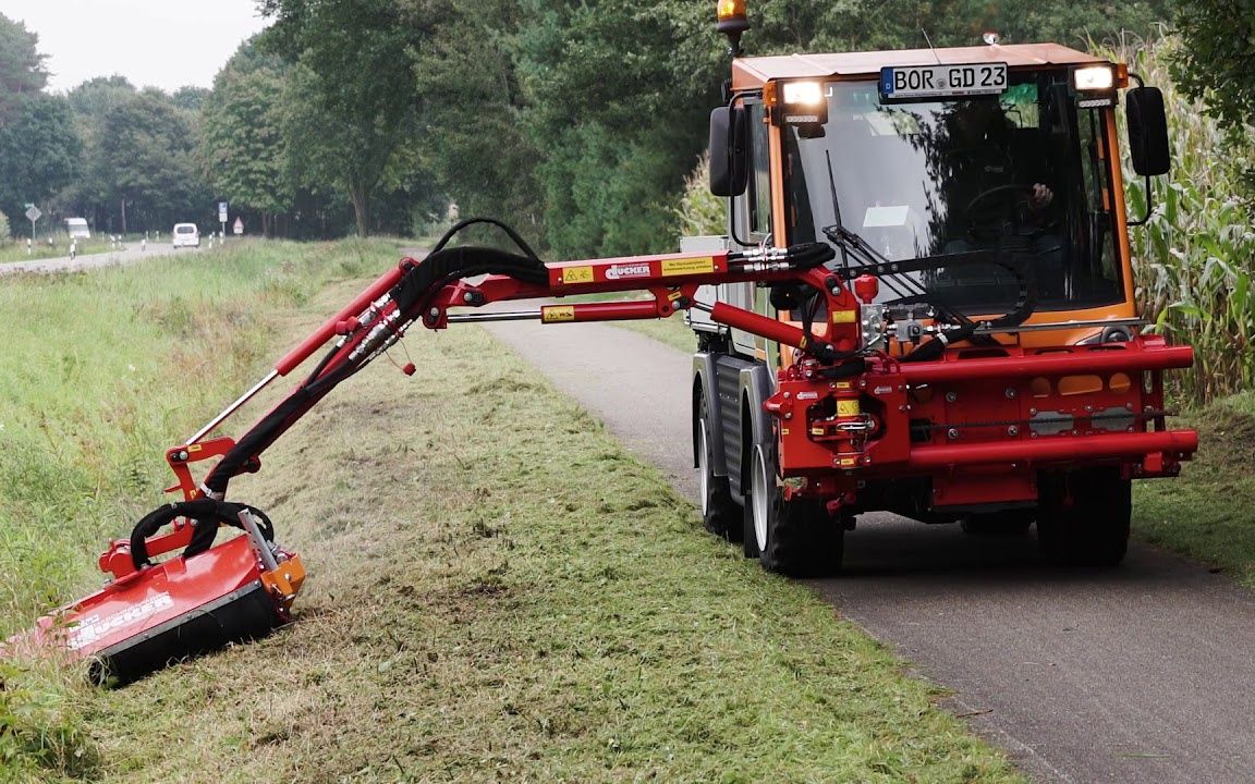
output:
[[[1001, 95], [931, 103], [882, 104], [875, 83], [826, 92], [822, 133], [784, 132], [791, 242], [841, 226], [894, 261], [994, 251], [1030, 271], [1037, 310], [1124, 299], [1103, 109], [1078, 108], [1067, 73], [1012, 74]], [[1005, 265], [936, 261], [912, 273], [935, 302], [991, 312], [1018, 296]], [[838, 248], [836, 263], [857, 262]]]

